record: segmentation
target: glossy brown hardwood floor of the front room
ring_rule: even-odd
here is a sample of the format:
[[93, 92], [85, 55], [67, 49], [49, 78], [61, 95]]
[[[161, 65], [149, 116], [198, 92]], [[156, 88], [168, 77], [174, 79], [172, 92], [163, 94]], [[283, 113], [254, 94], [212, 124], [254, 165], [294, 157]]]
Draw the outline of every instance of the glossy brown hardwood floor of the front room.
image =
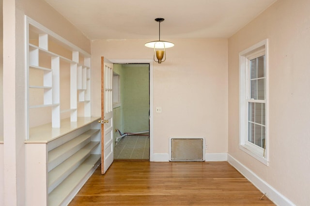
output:
[[274, 205], [228, 162], [113, 162], [69, 206]]

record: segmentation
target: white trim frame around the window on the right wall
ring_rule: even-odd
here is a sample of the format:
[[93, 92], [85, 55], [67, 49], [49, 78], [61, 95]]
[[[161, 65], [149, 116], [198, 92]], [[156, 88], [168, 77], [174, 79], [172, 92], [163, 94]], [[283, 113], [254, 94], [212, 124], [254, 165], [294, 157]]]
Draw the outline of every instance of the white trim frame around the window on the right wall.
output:
[[[248, 142], [248, 67], [249, 59], [265, 55], [265, 149]], [[263, 164], [269, 164], [269, 87], [268, 87], [268, 39], [239, 53], [239, 148]], [[263, 156], [264, 153], [264, 156]]]

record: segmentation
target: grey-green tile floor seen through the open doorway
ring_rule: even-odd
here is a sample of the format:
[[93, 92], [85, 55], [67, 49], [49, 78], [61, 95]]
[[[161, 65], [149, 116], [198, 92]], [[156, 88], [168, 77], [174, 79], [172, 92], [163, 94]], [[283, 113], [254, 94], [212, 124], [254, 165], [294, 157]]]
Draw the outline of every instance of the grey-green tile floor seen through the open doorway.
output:
[[114, 147], [114, 159], [150, 159], [150, 136], [128, 135]]

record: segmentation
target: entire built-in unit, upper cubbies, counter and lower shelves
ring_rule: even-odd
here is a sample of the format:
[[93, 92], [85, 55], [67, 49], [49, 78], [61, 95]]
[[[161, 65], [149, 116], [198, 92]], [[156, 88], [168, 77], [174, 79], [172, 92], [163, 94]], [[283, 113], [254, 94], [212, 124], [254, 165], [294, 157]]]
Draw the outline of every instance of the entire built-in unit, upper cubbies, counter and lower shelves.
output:
[[91, 55], [27, 16], [25, 22], [26, 205], [67, 205], [101, 158]]

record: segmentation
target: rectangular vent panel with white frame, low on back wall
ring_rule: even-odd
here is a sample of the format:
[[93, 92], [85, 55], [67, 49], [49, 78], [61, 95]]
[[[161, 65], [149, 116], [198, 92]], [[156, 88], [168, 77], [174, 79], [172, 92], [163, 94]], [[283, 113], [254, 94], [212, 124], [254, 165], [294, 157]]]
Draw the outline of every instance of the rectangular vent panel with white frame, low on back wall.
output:
[[171, 137], [170, 161], [204, 161], [203, 137]]

